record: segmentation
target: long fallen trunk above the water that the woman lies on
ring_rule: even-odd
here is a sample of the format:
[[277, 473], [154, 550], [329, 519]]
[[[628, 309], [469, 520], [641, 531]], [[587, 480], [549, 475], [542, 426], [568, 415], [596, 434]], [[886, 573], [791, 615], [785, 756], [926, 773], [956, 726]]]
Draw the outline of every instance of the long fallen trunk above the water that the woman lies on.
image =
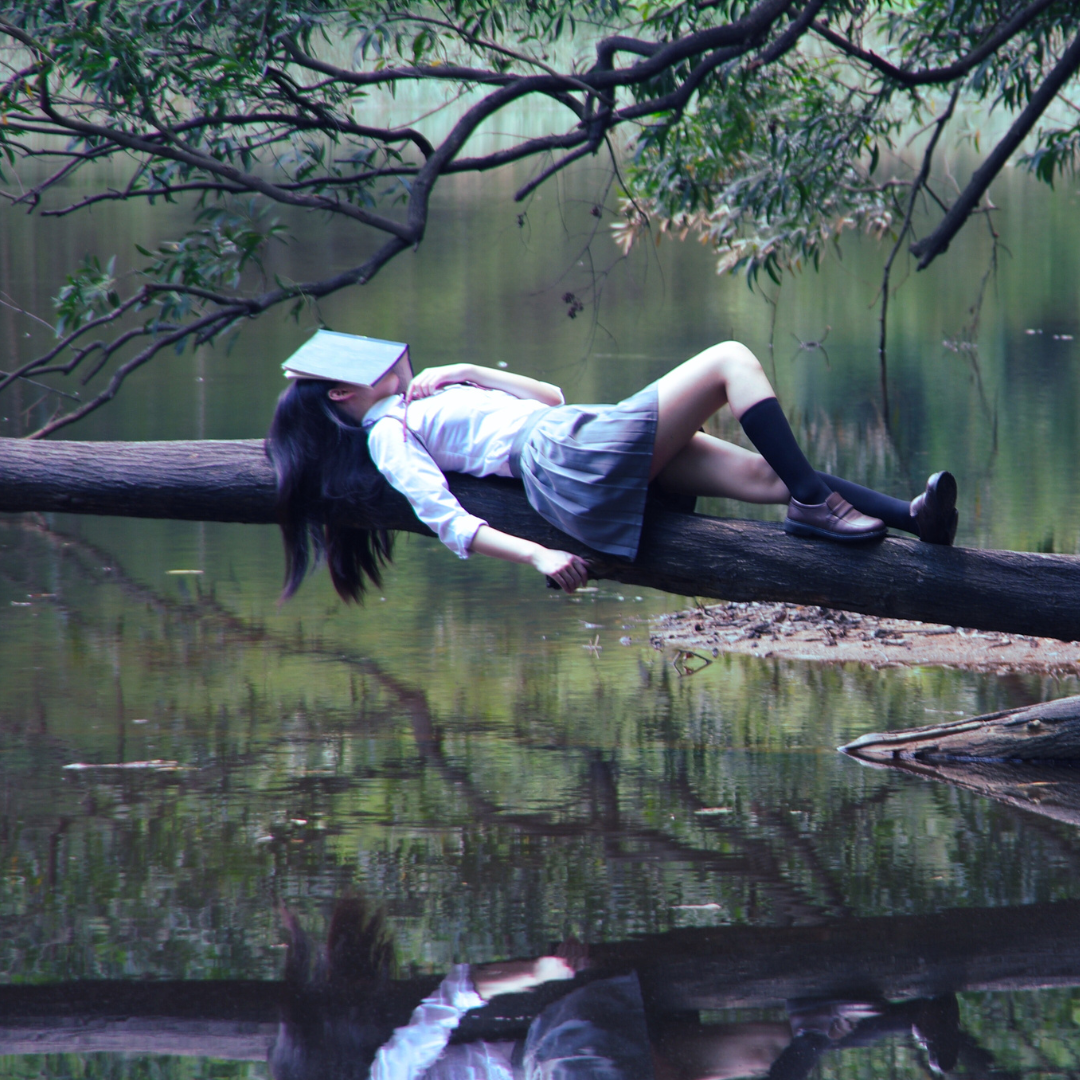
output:
[[[787, 600], [975, 630], [1080, 639], [1080, 558], [939, 548], [890, 538], [843, 546], [779, 525], [653, 505], [634, 563], [597, 555], [528, 505], [521, 486], [450, 476], [497, 528], [590, 558], [595, 576], [690, 596]], [[258, 440], [75, 443], [0, 438], [0, 511], [273, 522], [273, 476]], [[357, 526], [430, 535], [396, 492]]]

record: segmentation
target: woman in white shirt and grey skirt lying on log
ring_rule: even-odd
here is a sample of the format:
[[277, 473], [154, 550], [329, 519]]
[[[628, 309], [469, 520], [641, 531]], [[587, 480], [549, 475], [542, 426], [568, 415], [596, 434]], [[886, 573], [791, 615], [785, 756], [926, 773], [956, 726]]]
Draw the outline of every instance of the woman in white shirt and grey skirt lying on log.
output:
[[[706, 435], [724, 405], [755, 454]], [[391, 555], [384, 530], [341, 525], [379, 497], [379, 476], [461, 558], [525, 563], [567, 592], [583, 585], [580, 555], [492, 528], [450, 494], [444, 472], [518, 476], [532, 508], [596, 551], [637, 554], [648, 485], [692, 496], [787, 503], [785, 531], [845, 543], [886, 528], [929, 543], [956, 535], [956, 481], [935, 473], [912, 500], [816, 472], [799, 449], [754, 354], [715, 345], [618, 405], [566, 405], [563, 393], [510, 372], [451, 364], [406, 386], [388, 373], [374, 386], [295, 379], [274, 413], [267, 453], [278, 476], [285, 589], [299, 586], [312, 555], [325, 555], [346, 599], [378, 583]]]

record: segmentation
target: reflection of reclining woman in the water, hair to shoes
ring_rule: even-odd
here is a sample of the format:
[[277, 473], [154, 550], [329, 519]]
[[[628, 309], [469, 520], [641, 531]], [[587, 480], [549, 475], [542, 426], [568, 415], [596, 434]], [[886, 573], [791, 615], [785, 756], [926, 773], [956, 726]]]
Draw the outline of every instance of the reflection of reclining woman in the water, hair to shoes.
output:
[[557, 956], [458, 964], [403, 1023], [392, 1003], [393, 943], [362, 900], [335, 905], [315, 962], [292, 917], [289, 930], [284, 1009], [270, 1049], [274, 1080], [804, 1080], [828, 1050], [903, 1031], [916, 1035], [935, 1069], [956, 1064], [953, 995], [802, 999], [788, 1002], [789, 1023], [702, 1024], [685, 1012], [647, 1011], [633, 972], [579, 980], [516, 1041], [451, 1042], [465, 1013], [492, 998], [573, 978], [585, 947], [571, 941]]

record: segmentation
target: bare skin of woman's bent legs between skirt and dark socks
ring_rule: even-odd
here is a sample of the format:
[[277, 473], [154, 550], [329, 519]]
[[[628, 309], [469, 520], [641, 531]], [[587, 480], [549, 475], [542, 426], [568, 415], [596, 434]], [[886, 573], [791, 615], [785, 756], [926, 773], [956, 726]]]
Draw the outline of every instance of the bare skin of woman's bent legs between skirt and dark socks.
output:
[[724, 405], [730, 405], [738, 418], [774, 396], [750, 349], [738, 341], [714, 345], [669, 372], [657, 390], [650, 480], [691, 495], [787, 502], [787, 488], [760, 455], [699, 431]]

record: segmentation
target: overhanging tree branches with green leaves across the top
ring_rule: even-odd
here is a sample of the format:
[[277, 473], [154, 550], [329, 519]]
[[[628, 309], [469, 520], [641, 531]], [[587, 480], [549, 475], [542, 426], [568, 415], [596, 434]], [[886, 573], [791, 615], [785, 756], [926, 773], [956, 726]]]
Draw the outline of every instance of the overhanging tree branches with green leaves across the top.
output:
[[[63, 218], [104, 201], [187, 198], [193, 215], [186, 235], [145, 253], [126, 296], [99, 255], [73, 272], [56, 301], [59, 343], [0, 391], [99, 352], [92, 374], [110, 370], [107, 386], [37, 433], [48, 434], [166, 346], [370, 280], [422, 241], [442, 177], [531, 160], [521, 200], [585, 154], [618, 154], [619, 132], [624, 248], [646, 232], [693, 232], [723, 270], [779, 280], [816, 266], [845, 229], [899, 246], [926, 191], [947, 213], [913, 247], [924, 266], [1029, 133], [1037, 176], [1074, 167], [1071, 120], [1036, 124], [1080, 69], [1078, 35], [1068, 0], [0, 0], [9, 201]], [[408, 83], [457, 102], [441, 139], [395, 97]], [[930, 170], [951, 116], [945, 94], [1016, 114], [995, 170], [951, 207]], [[565, 123], [471, 149], [486, 120], [537, 96]], [[886, 175], [882, 156], [921, 125], [932, 131], [923, 168]], [[19, 185], [8, 174], [26, 161], [52, 171]], [[58, 200], [73, 173], [105, 164], [124, 183], [90, 173], [91, 194]], [[285, 239], [275, 205], [335, 215], [381, 243], [343, 272], [271, 285], [262, 254]], [[81, 345], [106, 324], [111, 342]]]

